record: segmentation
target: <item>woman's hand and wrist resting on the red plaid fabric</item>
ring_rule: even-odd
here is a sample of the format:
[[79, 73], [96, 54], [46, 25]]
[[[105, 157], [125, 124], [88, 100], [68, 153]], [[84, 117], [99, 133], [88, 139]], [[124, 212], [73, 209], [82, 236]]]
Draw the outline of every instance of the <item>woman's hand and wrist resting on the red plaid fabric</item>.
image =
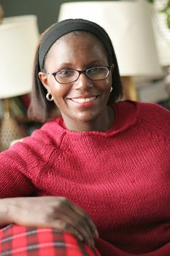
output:
[[52, 227], [72, 233], [80, 241], [94, 246], [98, 237], [92, 220], [66, 197], [15, 197], [9, 200], [9, 216], [15, 224]]

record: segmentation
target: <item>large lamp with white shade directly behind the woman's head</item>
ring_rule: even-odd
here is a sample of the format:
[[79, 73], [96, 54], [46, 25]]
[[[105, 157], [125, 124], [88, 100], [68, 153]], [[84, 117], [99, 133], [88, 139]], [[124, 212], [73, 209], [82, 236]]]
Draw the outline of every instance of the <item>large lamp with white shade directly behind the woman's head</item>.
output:
[[162, 75], [148, 4], [141, 1], [81, 1], [61, 4], [58, 20], [85, 18], [112, 40], [126, 98], [136, 99], [132, 77]]

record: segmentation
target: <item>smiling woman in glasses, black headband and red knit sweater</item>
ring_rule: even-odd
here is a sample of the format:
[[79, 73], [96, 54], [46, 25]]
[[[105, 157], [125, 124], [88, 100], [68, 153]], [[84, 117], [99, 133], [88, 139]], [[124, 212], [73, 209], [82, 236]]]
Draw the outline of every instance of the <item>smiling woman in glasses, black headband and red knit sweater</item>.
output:
[[169, 255], [170, 113], [121, 95], [104, 29], [71, 19], [42, 35], [29, 116], [46, 123], [1, 153], [0, 223], [15, 223], [2, 253], [28, 227], [36, 255]]

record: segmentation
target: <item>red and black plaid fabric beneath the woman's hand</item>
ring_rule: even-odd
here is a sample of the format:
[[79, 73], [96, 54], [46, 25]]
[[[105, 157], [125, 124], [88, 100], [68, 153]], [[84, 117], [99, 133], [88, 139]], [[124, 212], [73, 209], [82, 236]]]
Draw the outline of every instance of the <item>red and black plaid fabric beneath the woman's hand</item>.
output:
[[0, 230], [1, 256], [100, 256], [69, 233], [8, 225]]

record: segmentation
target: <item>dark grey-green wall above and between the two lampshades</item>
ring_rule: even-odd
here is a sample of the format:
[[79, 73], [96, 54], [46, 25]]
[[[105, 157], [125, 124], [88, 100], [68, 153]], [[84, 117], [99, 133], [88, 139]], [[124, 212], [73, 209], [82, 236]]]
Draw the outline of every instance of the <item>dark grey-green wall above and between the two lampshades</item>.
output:
[[72, 0], [0, 0], [0, 4], [4, 9], [4, 17], [27, 14], [36, 15], [41, 33], [58, 20], [61, 4], [70, 1]]

